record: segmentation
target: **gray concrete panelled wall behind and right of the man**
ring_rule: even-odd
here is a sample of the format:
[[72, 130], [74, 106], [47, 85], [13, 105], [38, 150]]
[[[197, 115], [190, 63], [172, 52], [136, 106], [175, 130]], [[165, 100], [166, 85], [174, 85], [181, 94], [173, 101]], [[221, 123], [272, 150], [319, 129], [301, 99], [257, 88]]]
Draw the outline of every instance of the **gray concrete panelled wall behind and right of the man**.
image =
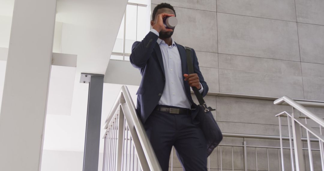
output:
[[[162, 2], [174, 6], [179, 24], [173, 38], [195, 49], [210, 92], [324, 101], [324, 1], [152, 0], [152, 10]], [[290, 107], [267, 100], [215, 96], [205, 100], [216, 108], [214, 117], [227, 133], [279, 135], [274, 115], [291, 112]], [[309, 109], [324, 117], [323, 109]], [[288, 135], [287, 126], [283, 133]], [[222, 143], [241, 145], [242, 141], [224, 138]], [[246, 141], [248, 145], [280, 145], [275, 140]], [[223, 169], [232, 169], [230, 147], [222, 150]], [[249, 149], [249, 170], [256, 170], [254, 153]], [[266, 154], [258, 151], [259, 170], [268, 169]], [[219, 156], [218, 147], [210, 158], [211, 170], [220, 168]], [[269, 157], [270, 170], [279, 170], [278, 151], [269, 150]], [[314, 154], [315, 170], [320, 170], [318, 158]], [[173, 170], [182, 170], [176, 155], [173, 159]], [[288, 153], [284, 160], [289, 162]], [[234, 148], [234, 169], [243, 169], [241, 148]]]

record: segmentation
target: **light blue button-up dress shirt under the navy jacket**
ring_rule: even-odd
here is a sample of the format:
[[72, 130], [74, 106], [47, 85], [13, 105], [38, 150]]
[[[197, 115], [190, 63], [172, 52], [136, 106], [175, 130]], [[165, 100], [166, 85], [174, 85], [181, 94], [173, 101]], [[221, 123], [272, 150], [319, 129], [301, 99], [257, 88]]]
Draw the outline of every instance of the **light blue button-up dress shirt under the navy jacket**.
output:
[[[159, 36], [159, 33], [155, 29], [152, 28], [151, 32]], [[161, 49], [166, 79], [159, 104], [190, 109], [191, 103], [186, 96], [183, 85], [181, 59], [177, 45], [173, 39], [171, 46], [166, 44], [165, 41], [160, 38], [158, 38], [156, 42], [159, 44]], [[202, 88], [199, 90], [199, 93], [202, 93], [203, 85], [201, 83], [200, 85]]]

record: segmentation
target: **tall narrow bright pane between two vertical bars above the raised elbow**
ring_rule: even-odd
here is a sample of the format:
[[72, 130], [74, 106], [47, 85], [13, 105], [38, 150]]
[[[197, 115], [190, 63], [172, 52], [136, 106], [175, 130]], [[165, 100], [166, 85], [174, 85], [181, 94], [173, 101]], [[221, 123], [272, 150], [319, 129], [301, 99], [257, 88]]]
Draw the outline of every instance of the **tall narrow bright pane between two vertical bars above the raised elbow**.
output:
[[131, 53], [132, 45], [136, 40], [136, 12], [137, 6], [127, 5], [125, 53]]

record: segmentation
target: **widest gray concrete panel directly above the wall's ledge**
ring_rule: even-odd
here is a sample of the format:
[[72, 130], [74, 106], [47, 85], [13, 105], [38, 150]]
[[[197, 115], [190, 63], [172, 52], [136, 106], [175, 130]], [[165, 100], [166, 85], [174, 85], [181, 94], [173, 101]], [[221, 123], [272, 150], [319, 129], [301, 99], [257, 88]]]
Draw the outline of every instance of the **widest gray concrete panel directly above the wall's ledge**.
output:
[[219, 69], [219, 90], [222, 93], [304, 98], [302, 78], [281, 74]]

